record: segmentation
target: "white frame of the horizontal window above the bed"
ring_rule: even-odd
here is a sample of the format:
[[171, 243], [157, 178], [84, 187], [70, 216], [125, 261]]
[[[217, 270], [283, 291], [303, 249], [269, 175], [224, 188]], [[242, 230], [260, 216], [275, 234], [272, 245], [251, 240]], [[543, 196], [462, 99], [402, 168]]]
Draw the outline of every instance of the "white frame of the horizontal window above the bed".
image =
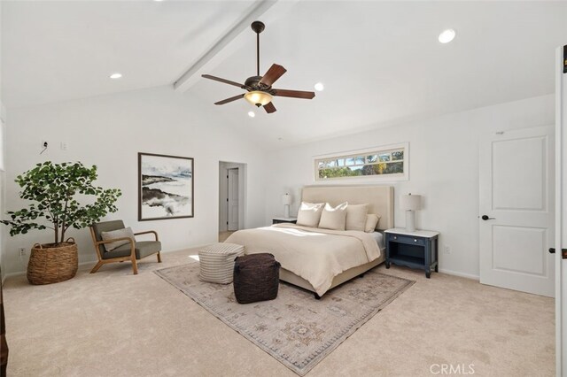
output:
[[[342, 159], [353, 158], [361, 155], [379, 155], [391, 150], [403, 150], [404, 158], [403, 173], [389, 173], [389, 174], [376, 174], [376, 175], [357, 175], [352, 177], [331, 177], [319, 178], [319, 162], [324, 159]], [[363, 165], [372, 165], [364, 160]], [[326, 155], [319, 155], [313, 157], [314, 167], [314, 180], [317, 183], [324, 182], [338, 182], [338, 181], [408, 181], [409, 180], [409, 142], [400, 142], [398, 144], [380, 145], [377, 147], [367, 148], [364, 150], [346, 150], [342, 152], [335, 152]]]

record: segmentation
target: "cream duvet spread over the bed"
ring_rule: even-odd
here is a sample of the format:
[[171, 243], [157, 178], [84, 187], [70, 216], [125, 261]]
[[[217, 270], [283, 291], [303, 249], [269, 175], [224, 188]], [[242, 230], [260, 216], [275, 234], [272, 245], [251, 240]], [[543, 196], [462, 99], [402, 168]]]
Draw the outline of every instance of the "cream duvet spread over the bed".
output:
[[226, 242], [244, 245], [246, 254], [274, 254], [283, 268], [309, 281], [319, 296], [339, 273], [380, 257], [371, 234], [285, 223], [239, 230]]

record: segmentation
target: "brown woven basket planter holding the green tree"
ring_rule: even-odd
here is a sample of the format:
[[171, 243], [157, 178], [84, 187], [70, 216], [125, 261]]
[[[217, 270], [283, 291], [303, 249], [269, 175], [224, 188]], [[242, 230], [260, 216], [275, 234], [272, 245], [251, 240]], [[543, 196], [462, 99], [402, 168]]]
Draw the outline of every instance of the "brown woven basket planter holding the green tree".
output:
[[35, 243], [27, 264], [27, 281], [35, 285], [67, 281], [74, 277], [77, 268], [79, 258], [73, 238], [58, 246]]

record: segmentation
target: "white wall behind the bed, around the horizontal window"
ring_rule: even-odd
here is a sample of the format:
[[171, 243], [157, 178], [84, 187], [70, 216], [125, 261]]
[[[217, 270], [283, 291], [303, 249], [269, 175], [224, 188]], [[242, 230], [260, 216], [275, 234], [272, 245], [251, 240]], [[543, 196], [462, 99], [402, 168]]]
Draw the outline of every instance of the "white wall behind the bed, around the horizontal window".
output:
[[[416, 226], [440, 232], [439, 268], [476, 278], [478, 140], [498, 130], [552, 125], [554, 114], [554, 96], [539, 96], [276, 151], [268, 158], [266, 220], [283, 212], [280, 197], [285, 192], [293, 195], [291, 212], [297, 213], [300, 188], [315, 184], [315, 156], [409, 142], [409, 181], [392, 183], [396, 227], [405, 226], [404, 214], [397, 209], [400, 194], [423, 195]], [[446, 245], [451, 254], [443, 252]]]

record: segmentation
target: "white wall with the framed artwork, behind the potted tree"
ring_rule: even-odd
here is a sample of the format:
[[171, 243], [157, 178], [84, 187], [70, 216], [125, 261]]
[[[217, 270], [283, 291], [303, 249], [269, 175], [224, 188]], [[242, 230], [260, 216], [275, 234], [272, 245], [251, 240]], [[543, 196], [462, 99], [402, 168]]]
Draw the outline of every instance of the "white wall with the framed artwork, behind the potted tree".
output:
[[[155, 229], [164, 251], [216, 242], [219, 214], [219, 161], [247, 166], [246, 225], [264, 223], [265, 151], [225, 127], [219, 112], [198, 98], [182, 96], [170, 87], [144, 89], [109, 96], [9, 109], [7, 127], [6, 210], [18, 210], [16, 175], [45, 160], [81, 161], [97, 165], [97, 185], [120, 188], [119, 212], [107, 219], [123, 219], [135, 231]], [[245, 114], [244, 114], [245, 116]], [[42, 141], [49, 148], [42, 155]], [[66, 150], [60, 143], [66, 142]], [[195, 217], [137, 221], [137, 152], [195, 158]], [[79, 261], [96, 259], [88, 229], [71, 230], [79, 244]], [[25, 270], [19, 247], [52, 242], [50, 231], [34, 231], [6, 240], [6, 273]], [[165, 256], [164, 258], [167, 258]]]

